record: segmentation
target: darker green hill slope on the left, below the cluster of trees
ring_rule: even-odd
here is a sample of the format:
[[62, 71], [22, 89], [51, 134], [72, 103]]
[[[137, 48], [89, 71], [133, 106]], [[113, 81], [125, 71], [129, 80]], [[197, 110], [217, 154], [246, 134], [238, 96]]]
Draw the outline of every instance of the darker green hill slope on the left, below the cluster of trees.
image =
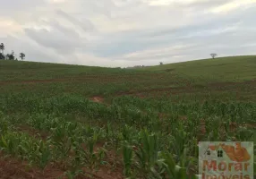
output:
[[55, 79], [91, 73], [122, 72], [119, 68], [0, 60], [0, 80]]

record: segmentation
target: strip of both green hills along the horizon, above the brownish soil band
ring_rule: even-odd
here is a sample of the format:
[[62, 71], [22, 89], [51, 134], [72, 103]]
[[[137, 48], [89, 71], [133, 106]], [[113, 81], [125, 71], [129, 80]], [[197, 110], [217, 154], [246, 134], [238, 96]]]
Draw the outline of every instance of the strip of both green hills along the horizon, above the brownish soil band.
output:
[[[77, 75], [133, 72], [161, 72], [192, 81], [249, 81], [256, 79], [256, 55], [229, 56], [156, 66], [106, 68], [0, 60], [0, 80], [53, 79]], [[120, 73], [121, 72], [121, 73]]]

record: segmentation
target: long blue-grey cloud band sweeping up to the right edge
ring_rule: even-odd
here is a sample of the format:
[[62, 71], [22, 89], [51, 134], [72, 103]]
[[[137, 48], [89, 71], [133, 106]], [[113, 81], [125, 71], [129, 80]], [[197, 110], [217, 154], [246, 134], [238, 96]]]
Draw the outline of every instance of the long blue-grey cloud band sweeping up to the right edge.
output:
[[175, 46], [177, 43], [201, 44], [201, 49], [203, 49], [207, 46], [221, 44], [227, 47], [238, 46], [240, 42], [250, 43], [255, 39], [253, 38], [255, 26], [252, 24], [256, 14], [253, 7], [246, 11], [229, 13], [229, 15], [222, 16], [222, 19], [219, 18], [219, 16], [214, 16], [213, 21], [204, 21], [200, 24], [175, 29], [156, 28], [155, 30], [131, 30], [108, 34], [90, 50], [101, 57], [116, 57], [154, 47]]

